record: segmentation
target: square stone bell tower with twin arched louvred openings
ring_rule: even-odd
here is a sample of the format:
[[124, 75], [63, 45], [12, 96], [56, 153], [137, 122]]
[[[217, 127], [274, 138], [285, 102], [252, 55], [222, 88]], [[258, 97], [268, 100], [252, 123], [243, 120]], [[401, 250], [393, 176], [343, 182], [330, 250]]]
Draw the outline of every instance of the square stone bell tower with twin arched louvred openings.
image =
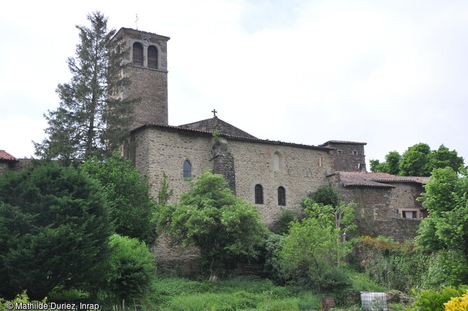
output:
[[124, 74], [131, 84], [126, 98], [140, 99], [133, 110], [136, 129], [144, 124], [168, 125], [168, 54], [170, 38], [130, 28], [121, 28], [113, 40], [123, 40], [129, 54], [124, 59]]

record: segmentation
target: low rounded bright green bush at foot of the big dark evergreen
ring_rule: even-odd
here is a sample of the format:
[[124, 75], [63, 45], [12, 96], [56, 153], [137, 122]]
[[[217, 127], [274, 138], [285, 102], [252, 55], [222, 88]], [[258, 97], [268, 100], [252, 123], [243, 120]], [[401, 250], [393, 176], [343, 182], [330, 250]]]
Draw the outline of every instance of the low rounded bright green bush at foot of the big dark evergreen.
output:
[[155, 280], [154, 255], [145, 243], [114, 234], [109, 242], [112, 252], [104, 263], [103, 289], [117, 301], [140, 298]]

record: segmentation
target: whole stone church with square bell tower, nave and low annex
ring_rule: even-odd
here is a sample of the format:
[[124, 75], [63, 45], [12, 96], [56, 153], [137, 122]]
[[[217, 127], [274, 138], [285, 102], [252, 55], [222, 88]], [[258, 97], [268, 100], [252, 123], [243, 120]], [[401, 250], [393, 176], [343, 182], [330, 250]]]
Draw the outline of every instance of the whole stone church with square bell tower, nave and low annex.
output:
[[[168, 124], [168, 50], [170, 38], [135, 29], [120, 29], [115, 40], [130, 48], [124, 96], [140, 98], [123, 153], [148, 175], [156, 196], [163, 173], [174, 189], [173, 201], [190, 180], [211, 168], [228, 181], [236, 196], [256, 205], [263, 222], [275, 225], [285, 209], [300, 210], [300, 201], [322, 186], [332, 186], [357, 205], [360, 234], [412, 238], [426, 216], [416, 198], [427, 178], [400, 177], [365, 170], [366, 143], [330, 140], [302, 145], [256, 138], [214, 117]], [[214, 110], [215, 113], [215, 110]], [[156, 251], [157, 252], [157, 251]], [[160, 250], [166, 254], [168, 249]], [[167, 255], [167, 254], [166, 254]]]

